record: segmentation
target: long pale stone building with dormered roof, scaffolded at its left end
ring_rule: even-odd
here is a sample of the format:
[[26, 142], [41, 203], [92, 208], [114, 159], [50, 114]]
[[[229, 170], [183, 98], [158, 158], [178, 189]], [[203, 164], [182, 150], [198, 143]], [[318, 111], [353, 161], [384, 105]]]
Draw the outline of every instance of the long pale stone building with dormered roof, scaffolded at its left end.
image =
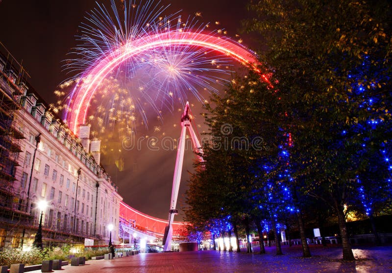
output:
[[[7, 57], [8, 56], [8, 57]], [[0, 56], [0, 248], [29, 248], [38, 229], [36, 204], [47, 201], [44, 245], [119, 242], [123, 198], [99, 165], [89, 125], [78, 137], [29, 86], [10, 54]]]

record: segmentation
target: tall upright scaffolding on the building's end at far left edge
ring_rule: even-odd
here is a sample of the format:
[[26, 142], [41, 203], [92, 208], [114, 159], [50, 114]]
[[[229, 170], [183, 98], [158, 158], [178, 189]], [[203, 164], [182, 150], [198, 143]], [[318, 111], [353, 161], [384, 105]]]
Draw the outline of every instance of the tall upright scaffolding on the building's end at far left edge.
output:
[[24, 162], [23, 112], [28, 73], [0, 43], [0, 248], [18, 248], [23, 230], [32, 224], [26, 207], [21, 162]]

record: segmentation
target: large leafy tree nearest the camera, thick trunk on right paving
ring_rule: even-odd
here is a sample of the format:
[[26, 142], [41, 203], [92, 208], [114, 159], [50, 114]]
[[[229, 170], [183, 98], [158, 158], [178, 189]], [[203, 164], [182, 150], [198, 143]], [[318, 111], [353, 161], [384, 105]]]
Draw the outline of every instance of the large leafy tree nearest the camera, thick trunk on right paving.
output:
[[381, 21], [386, 14], [377, 18], [373, 12], [377, 5], [351, 0], [259, 1], [249, 4], [255, 18], [244, 22], [246, 31], [264, 36], [269, 49], [261, 61], [273, 67], [272, 82], [290, 120], [293, 177], [302, 194], [323, 200], [336, 212], [345, 260], [354, 255], [344, 205], [353, 198], [356, 176], [364, 169], [357, 157], [362, 139], [343, 132], [374, 113], [391, 118], [381, 103], [370, 111], [361, 108], [364, 97], [352, 93], [358, 81], [349, 77], [362, 66], [364, 56], [370, 56], [377, 69], [368, 77], [378, 84], [369, 90], [390, 101], [391, 89], [383, 86], [391, 86], [391, 37], [389, 25]]

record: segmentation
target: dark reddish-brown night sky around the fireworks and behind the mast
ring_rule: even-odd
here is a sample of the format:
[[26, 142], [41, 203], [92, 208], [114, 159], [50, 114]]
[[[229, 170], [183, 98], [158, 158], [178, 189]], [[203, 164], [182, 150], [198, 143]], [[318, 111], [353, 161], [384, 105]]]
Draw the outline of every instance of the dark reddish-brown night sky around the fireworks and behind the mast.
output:
[[[110, 7], [108, 0], [98, 1]], [[118, 2], [118, 1], [116, 1]], [[225, 28], [229, 37], [234, 37], [240, 28], [240, 21], [247, 15], [246, 0], [162, 0], [162, 5], [171, 4], [165, 14], [182, 10], [182, 15], [202, 13], [204, 23], [219, 21], [219, 28]], [[74, 36], [78, 25], [87, 11], [96, 7], [95, 0], [0, 0], [0, 41], [11, 54], [23, 62], [31, 76], [29, 80], [34, 89], [48, 103], [55, 101], [53, 91], [70, 77], [62, 71], [61, 61], [76, 45]], [[218, 28], [218, 27], [217, 27]], [[249, 37], [243, 37], [245, 45], [254, 45]], [[222, 88], [223, 89], [223, 88]], [[196, 124], [203, 131], [203, 119], [199, 115], [201, 103], [189, 98], [194, 104], [193, 114]], [[177, 108], [183, 106], [177, 105]], [[181, 113], [164, 113], [162, 131], [168, 136], [179, 137]], [[153, 127], [155, 121], [151, 122]], [[141, 129], [140, 136], [152, 135], [151, 129]], [[116, 172], [113, 166], [104, 166], [113, 180], [119, 185], [119, 193], [124, 201], [134, 208], [159, 218], [167, 218], [172, 191], [172, 176], [176, 150], [173, 151], [131, 151], [124, 155], [125, 170]], [[194, 156], [189, 148], [185, 153], [183, 176], [177, 208], [184, 206], [184, 192], [188, 179], [187, 171], [192, 172]], [[175, 220], [181, 220], [176, 217]]]

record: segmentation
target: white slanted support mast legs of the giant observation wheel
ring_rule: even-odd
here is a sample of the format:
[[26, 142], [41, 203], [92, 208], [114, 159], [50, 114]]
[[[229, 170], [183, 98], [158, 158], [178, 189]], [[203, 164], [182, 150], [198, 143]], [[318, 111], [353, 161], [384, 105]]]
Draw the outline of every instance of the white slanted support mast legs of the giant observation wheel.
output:
[[[198, 140], [195, 131], [192, 128], [191, 116], [190, 116], [189, 102], [185, 105], [184, 114], [181, 116], [181, 135], [177, 146], [177, 158], [175, 160], [174, 175], [173, 175], [173, 186], [172, 186], [172, 199], [170, 202], [169, 219], [168, 225], [165, 228], [165, 234], [163, 237], [164, 251], [170, 251], [172, 248], [172, 235], [173, 228], [172, 223], [174, 215], [178, 214], [178, 210], [175, 208], [177, 205], [178, 189], [181, 182], [182, 173], [182, 163], [184, 161], [184, 151], [185, 151], [185, 135], [186, 129], [188, 128], [189, 134], [192, 138], [192, 144], [196, 153], [202, 153], [203, 150], [200, 146], [200, 141]], [[203, 159], [197, 155], [197, 159], [202, 162]]]

